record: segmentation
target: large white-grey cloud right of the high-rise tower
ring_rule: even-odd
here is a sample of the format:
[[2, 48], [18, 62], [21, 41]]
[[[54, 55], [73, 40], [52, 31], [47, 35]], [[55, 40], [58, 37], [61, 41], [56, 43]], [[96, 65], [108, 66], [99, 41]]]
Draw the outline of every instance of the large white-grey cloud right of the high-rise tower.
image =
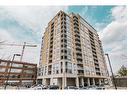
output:
[[127, 55], [127, 6], [116, 6], [111, 9], [113, 21], [101, 32], [100, 38], [105, 52], [110, 54], [111, 62], [115, 72], [123, 62], [122, 55]]

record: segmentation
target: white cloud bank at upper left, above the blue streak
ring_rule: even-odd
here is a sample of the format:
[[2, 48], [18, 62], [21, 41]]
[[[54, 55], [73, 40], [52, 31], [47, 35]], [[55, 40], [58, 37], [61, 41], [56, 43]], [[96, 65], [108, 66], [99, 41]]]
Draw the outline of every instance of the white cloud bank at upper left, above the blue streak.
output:
[[[2, 7], [0, 17], [2, 19], [13, 20], [18, 23], [25, 32], [40, 37], [44, 32], [48, 22], [59, 10], [67, 10], [66, 6], [31, 6], [31, 7]], [[4, 17], [4, 15], [6, 16]], [[23, 30], [22, 32], [23, 33]], [[24, 35], [23, 35], [24, 36]]]

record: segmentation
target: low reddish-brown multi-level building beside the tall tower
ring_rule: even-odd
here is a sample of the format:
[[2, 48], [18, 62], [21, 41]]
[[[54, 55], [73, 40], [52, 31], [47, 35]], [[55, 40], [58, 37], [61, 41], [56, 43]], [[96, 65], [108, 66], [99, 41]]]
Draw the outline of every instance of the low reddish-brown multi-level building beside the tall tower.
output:
[[7, 83], [33, 85], [37, 78], [37, 64], [0, 59], [0, 85]]

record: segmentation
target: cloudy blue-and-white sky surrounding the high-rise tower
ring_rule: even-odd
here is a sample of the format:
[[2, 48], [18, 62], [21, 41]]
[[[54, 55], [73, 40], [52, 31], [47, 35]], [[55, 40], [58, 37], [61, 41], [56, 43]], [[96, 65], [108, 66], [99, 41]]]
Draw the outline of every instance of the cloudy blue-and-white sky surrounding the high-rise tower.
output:
[[[64, 10], [80, 14], [97, 31], [105, 53], [109, 53], [114, 72], [127, 66], [127, 6], [31, 6], [0, 7], [0, 40], [5, 43], [37, 44], [26, 47], [23, 61], [39, 63], [41, 37], [48, 22]], [[0, 46], [0, 58], [12, 59], [20, 46]], [[16, 60], [19, 60], [17, 57]]]

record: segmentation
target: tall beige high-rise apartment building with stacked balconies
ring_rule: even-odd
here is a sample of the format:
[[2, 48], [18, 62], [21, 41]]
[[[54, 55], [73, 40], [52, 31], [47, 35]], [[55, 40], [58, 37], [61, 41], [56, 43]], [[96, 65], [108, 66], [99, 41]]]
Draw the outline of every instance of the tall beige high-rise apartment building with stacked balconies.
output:
[[78, 14], [58, 12], [42, 37], [38, 81], [64, 88], [99, 85], [107, 78], [97, 31]]

